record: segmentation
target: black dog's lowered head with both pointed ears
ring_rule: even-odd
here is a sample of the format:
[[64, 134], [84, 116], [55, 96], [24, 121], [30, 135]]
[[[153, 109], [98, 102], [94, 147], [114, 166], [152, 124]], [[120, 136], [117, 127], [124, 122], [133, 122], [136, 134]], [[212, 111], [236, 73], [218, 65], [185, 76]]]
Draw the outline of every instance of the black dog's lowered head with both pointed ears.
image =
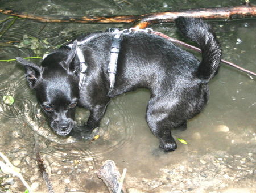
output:
[[76, 65], [76, 41], [71, 50], [48, 55], [41, 66], [23, 58], [16, 58], [26, 69], [30, 88], [53, 130], [68, 135], [75, 126], [75, 108], [79, 100], [79, 66]]

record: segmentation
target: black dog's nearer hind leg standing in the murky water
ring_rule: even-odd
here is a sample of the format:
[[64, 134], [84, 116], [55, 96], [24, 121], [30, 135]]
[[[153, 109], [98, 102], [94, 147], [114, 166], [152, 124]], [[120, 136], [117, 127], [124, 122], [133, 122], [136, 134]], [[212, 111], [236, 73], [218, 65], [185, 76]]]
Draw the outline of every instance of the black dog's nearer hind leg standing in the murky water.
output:
[[171, 130], [179, 127], [184, 129], [187, 124], [185, 119], [177, 118], [175, 102], [164, 101], [161, 98], [153, 97], [150, 99], [146, 120], [152, 133], [159, 139], [160, 148], [170, 152], [177, 148]]

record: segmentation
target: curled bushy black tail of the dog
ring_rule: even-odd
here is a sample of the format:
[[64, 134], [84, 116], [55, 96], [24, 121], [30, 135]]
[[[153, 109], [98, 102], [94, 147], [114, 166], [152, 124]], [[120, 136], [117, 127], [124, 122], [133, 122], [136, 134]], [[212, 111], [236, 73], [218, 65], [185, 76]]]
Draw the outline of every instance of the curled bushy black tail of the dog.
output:
[[221, 48], [210, 25], [201, 19], [179, 17], [175, 19], [179, 31], [195, 41], [202, 50], [202, 61], [196, 72], [200, 79], [209, 80], [217, 74], [221, 61]]

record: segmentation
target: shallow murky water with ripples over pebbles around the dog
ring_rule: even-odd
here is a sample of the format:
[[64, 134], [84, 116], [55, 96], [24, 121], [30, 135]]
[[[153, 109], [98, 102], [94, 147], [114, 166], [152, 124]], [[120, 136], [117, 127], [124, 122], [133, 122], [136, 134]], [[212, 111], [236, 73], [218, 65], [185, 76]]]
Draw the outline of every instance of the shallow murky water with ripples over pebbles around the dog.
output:
[[[173, 8], [195, 8], [238, 5], [240, 1], [2, 1], [0, 8], [13, 8], [39, 15], [118, 15], [144, 14]], [[230, 5], [232, 3], [232, 5]], [[29, 6], [28, 6], [29, 5]], [[82, 7], [82, 8], [80, 8]], [[0, 15], [0, 20], [5, 19]], [[0, 24], [0, 31], [9, 25]], [[253, 19], [233, 22], [210, 22], [221, 42], [224, 59], [251, 71], [255, 67], [255, 28]], [[73, 37], [85, 32], [105, 31], [107, 28], [129, 28], [130, 24], [49, 24], [31, 20], [16, 20], [0, 38], [0, 59], [17, 56], [42, 56]], [[156, 24], [156, 31], [181, 38], [174, 24]], [[43, 48], [16, 48], [9, 41], [23, 40], [23, 35], [46, 40]], [[242, 41], [240, 41], [240, 40]], [[32, 40], [32, 38], [30, 39]], [[47, 47], [49, 47], [47, 49]], [[199, 54], [195, 53], [198, 57]], [[40, 59], [34, 59], [40, 62]], [[34, 92], [24, 79], [24, 69], [16, 62], [0, 62], [0, 148], [17, 166], [28, 183], [39, 182], [37, 192], [46, 186], [35, 164], [34, 135], [40, 136], [44, 164], [56, 192], [106, 192], [104, 184], [94, 173], [105, 160], [114, 160], [120, 171], [127, 168], [125, 185], [143, 192], [222, 192], [226, 188], [255, 189], [255, 79], [222, 64], [218, 75], [210, 82], [210, 100], [205, 110], [188, 122], [186, 131], [174, 131], [178, 148], [171, 153], [158, 149], [159, 141], [151, 134], [144, 119], [150, 93], [146, 89], [114, 98], [101, 127], [94, 131], [100, 138], [94, 141], [75, 141], [52, 133], [36, 105]], [[2, 97], [11, 95], [15, 102], [3, 104]], [[76, 121], [82, 124], [89, 113], [77, 109]], [[227, 177], [228, 176], [228, 177]], [[0, 172], [3, 179], [9, 176]], [[69, 179], [70, 183], [65, 183]], [[64, 183], [63, 183], [64, 181]], [[3, 182], [5, 182], [3, 180]], [[3, 190], [0, 179], [0, 192]], [[182, 183], [181, 183], [182, 182]], [[73, 188], [73, 189], [72, 189]], [[10, 190], [24, 191], [13, 180]], [[181, 191], [182, 190], [182, 191]], [[240, 190], [240, 189], [239, 189]]]

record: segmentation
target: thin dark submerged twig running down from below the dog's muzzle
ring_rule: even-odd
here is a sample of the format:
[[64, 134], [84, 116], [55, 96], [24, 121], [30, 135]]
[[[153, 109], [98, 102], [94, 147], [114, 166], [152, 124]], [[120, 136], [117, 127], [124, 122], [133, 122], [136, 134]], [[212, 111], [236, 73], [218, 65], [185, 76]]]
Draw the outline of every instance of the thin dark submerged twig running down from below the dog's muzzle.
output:
[[48, 188], [49, 193], [54, 193], [53, 188], [52, 188], [52, 183], [49, 181], [48, 174], [46, 172], [46, 168], [44, 166], [43, 160], [40, 157], [40, 148], [39, 148], [39, 140], [38, 140], [38, 135], [34, 135], [35, 138], [35, 152], [36, 152], [36, 164], [38, 165], [39, 171], [43, 176], [44, 181], [46, 182], [46, 186]]

